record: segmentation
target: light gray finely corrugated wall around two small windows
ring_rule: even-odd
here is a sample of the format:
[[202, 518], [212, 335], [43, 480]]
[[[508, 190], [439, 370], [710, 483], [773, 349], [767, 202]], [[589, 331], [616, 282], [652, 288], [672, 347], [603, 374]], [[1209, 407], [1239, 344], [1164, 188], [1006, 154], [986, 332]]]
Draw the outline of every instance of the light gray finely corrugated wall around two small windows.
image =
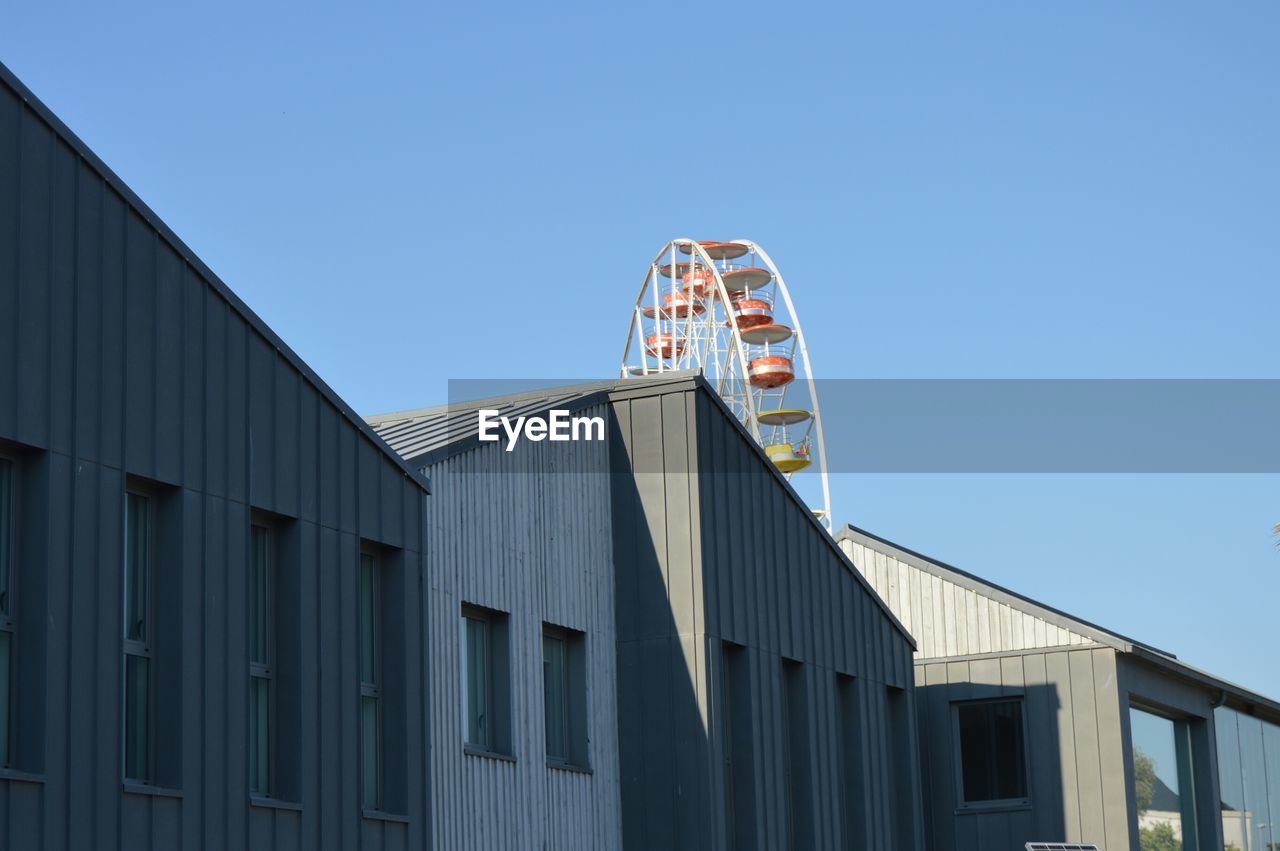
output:
[[[608, 445], [483, 444], [426, 471], [435, 847], [618, 847]], [[462, 750], [462, 603], [509, 614], [515, 761]], [[544, 622], [586, 633], [590, 774], [547, 765]]]

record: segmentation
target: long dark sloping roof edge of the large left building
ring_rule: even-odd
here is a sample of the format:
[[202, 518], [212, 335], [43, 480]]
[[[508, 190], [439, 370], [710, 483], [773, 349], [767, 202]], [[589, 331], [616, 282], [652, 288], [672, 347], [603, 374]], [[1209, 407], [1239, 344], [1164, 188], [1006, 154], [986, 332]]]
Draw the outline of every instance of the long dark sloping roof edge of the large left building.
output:
[[133, 189], [131, 189], [124, 183], [124, 180], [120, 179], [120, 177], [115, 171], [113, 171], [96, 154], [93, 154], [93, 151], [88, 147], [88, 145], [86, 145], [78, 136], [76, 136], [76, 133], [73, 133], [70, 128], [67, 127], [67, 124], [64, 124], [61, 119], [59, 119], [52, 113], [52, 110], [45, 106], [45, 104], [38, 97], [36, 97], [32, 93], [32, 91], [27, 88], [23, 84], [23, 82], [18, 79], [18, 77], [12, 70], [9, 70], [8, 67], [4, 65], [4, 63], [0, 63], [0, 83], [12, 88], [13, 92], [23, 101], [27, 109], [29, 109], [40, 120], [47, 124], [50, 129], [52, 129], [55, 136], [58, 136], [63, 142], [65, 142], [67, 146], [72, 151], [74, 151], [79, 159], [82, 159], [91, 169], [93, 169], [99, 174], [99, 177], [102, 178], [106, 186], [111, 187], [113, 191], [115, 191], [122, 198], [124, 198], [125, 203], [133, 207], [137, 211], [137, 214], [142, 216], [142, 220], [146, 221], [151, 228], [154, 228], [156, 233], [160, 235], [160, 238], [168, 242], [169, 246], [178, 253], [178, 256], [182, 257], [182, 260], [187, 265], [189, 265], [197, 274], [200, 274], [200, 276], [204, 278], [205, 283], [210, 288], [212, 288], [214, 292], [216, 292], [223, 298], [223, 301], [225, 301], [230, 306], [230, 308], [248, 324], [250, 328], [252, 328], [259, 335], [266, 339], [266, 342], [270, 343], [275, 348], [275, 351], [279, 352], [280, 356], [285, 361], [288, 361], [289, 365], [293, 366], [293, 369], [297, 370], [298, 374], [302, 375], [302, 378], [307, 383], [315, 386], [316, 390], [320, 393], [320, 395], [324, 397], [330, 404], [333, 404], [338, 410], [338, 412], [348, 422], [351, 422], [352, 426], [355, 426], [366, 438], [369, 438], [369, 440], [371, 440], [374, 445], [378, 447], [378, 449], [383, 454], [385, 454], [393, 463], [396, 463], [396, 466], [403, 470], [406, 476], [412, 479], [424, 490], [430, 491], [430, 484], [426, 481], [422, 473], [419, 472], [416, 467], [406, 463], [403, 458], [401, 458], [390, 447], [388, 447], [387, 443], [378, 436], [378, 433], [374, 431], [374, 429], [370, 427], [369, 424], [366, 424], [365, 420], [358, 413], [356, 413], [356, 411], [349, 404], [347, 404], [340, 395], [338, 395], [333, 390], [333, 388], [325, 384], [325, 381], [319, 375], [316, 375], [315, 370], [307, 366], [307, 363], [301, 357], [298, 357], [297, 352], [289, 348], [288, 344], [285, 344], [285, 342], [280, 339], [280, 337], [275, 331], [273, 331], [271, 328], [266, 322], [264, 322], [261, 317], [259, 317], [257, 314], [250, 310], [248, 305], [241, 301], [239, 296], [232, 292], [230, 287], [228, 287], [221, 280], [221, 278], [214, 274], [214, 271], [209, 266], [206, 266], [200, 257], [196, 256], [196, 252], [193, 252], [187, 246], [187, 243], [179, 239], [178, 234], [170, 230], [169, 225], [161, 221], [160, 216], [157, 216], [155, 211], [151, 210], [151, 207], [143, 203], [142, 198], [140, 198], [133, 192]]

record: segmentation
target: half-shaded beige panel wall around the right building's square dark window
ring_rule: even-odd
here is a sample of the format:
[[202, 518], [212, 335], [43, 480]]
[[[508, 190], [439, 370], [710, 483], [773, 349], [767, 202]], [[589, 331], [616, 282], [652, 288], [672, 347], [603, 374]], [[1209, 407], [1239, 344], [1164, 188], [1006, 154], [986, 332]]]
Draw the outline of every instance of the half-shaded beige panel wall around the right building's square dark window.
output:
[[[916, 663], [928, 847], [1020, 848], [1029, 841], [1129, 847], [1125, 749], [1116, 653], [1062, 648]], [[1023, 695], [1030, 767], [1028, 809], [956, 813], [951, 703]]]

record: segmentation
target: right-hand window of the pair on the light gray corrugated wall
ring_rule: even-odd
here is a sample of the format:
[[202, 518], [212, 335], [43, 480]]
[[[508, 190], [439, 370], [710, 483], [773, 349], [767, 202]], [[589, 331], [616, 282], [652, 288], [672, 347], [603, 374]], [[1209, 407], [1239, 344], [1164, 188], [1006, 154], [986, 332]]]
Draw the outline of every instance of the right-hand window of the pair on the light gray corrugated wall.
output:
[[586, 636], [543, 624], [543, 717], [547, 760], [586, 768]]

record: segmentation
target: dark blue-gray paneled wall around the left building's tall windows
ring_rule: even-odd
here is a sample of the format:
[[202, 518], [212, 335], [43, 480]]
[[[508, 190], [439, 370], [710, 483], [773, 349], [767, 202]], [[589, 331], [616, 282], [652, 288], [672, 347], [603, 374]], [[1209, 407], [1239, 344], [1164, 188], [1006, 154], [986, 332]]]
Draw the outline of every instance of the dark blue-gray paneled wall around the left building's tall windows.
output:
[[[416, 577], [426, 497], [143, 215], [0, 81], [0, 439], [32, 449], [24, 475], [44, 490], [20, 532], [47, 577], [42, 742], [23, 767], [37, 777], [0, 779], [0, 846], [421, 847], [413, 756], [408, 823], [361, 819], [355, 566], [367, 539], [403, 548]], [[127, 475], [170, 485], [180, 518], [182, 555], [163, 566], [182, 569], [180, 797], [122, 790]], [[251, 508], [297, 520], [300, 811], [248, 806]], [[406, 617], [419, 754], [412, 599]]]

